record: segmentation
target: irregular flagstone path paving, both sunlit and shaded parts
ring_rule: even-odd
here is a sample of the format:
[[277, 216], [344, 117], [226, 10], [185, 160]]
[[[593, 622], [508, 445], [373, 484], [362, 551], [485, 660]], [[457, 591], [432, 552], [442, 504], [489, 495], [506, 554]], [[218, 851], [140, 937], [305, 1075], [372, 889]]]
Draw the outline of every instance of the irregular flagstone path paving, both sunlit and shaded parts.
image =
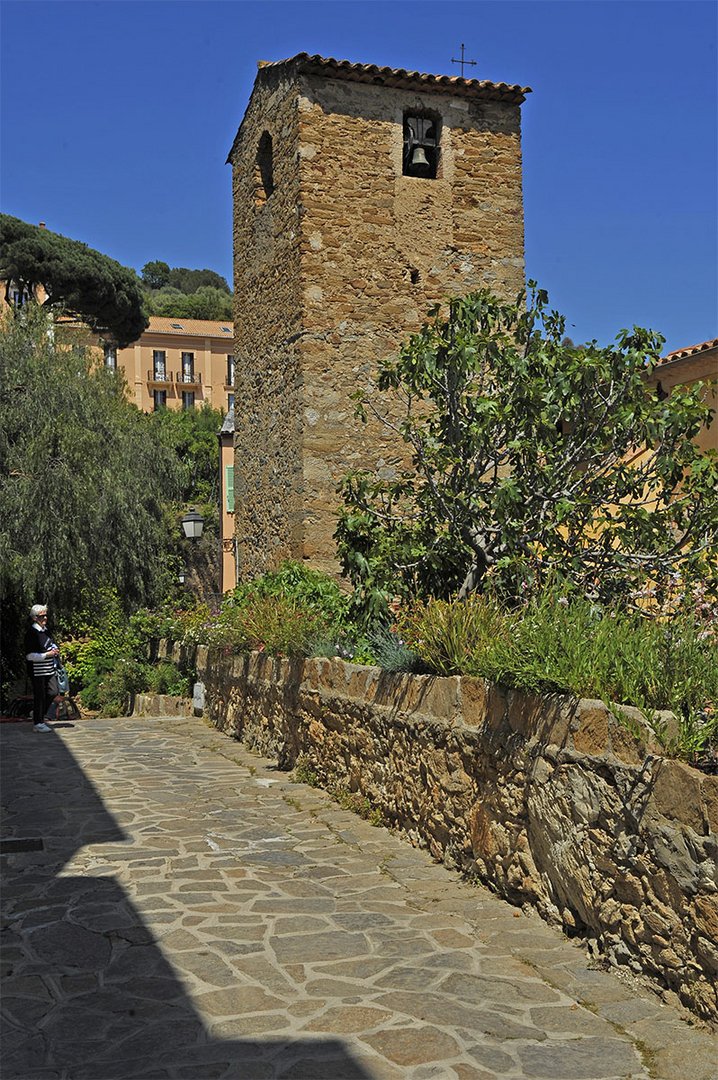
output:
[[716, 1080], [715, 1038], [201, 719], [0, 730], [3, 1080]]

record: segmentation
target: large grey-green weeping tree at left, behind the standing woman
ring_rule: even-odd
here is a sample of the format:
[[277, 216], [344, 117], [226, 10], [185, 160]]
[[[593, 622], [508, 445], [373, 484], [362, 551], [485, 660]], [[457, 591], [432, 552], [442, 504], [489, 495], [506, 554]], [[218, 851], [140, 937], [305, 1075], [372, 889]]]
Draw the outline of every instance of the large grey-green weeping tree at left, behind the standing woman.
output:
[[112, 373], [56, 347], [37, 307], [0, 325], [0, 591], [9, 622], [42, 599], [69, 617], [85, 590], [128, 611], [174, 575], [173, 453]]

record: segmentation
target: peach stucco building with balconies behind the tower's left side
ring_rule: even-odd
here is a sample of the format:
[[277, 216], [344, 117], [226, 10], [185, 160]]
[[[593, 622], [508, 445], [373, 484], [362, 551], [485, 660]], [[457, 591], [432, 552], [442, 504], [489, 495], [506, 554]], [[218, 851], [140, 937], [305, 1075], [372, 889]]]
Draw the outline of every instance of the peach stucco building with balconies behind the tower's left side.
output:
[[125, 349], [106, 346], [105, 363], [123, 372], [130, 400], [144, 413], [205, 403], [228, 413], [234, 405], [234, 327], [230, 322], [152, 315], [134, 345]]

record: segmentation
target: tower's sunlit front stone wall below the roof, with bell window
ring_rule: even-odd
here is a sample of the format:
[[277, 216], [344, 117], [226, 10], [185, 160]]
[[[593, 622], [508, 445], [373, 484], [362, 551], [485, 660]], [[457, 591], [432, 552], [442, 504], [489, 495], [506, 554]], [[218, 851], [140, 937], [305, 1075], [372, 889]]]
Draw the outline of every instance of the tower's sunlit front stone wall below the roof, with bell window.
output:
[[[377, 361], [429, 308], [489, 285], [524, 284], [519, 109], [445, 94], [304, 78], [299, 102], [304, 336], [303, 554], [330, 568], [336, 486], [381, 474], [401, 449], [353, 417]], [[405, 112], [442, 119], [439, 175], [402, 175]]]

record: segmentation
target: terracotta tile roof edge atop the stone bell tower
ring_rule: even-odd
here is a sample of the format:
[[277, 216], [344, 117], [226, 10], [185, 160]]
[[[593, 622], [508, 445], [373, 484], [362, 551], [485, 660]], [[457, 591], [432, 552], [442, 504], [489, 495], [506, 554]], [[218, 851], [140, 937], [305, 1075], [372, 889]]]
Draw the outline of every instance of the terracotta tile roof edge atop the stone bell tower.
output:
[[407, 71], [406, 68], [378, 67], [376, 64], [352, 64], [350, 60], [336, 60], [325, 56], [310, 56], [309, 53], [297, 53], [285, 60], [259, 60], [259, 71], [282, 67], [294, 67], [297, 70], [325, 75], [336, 79], [349, 79], [354, 82], [372, 82], [383, 86], [419, 85], [423, 90], [451, 91], [489, 97], [493, 100], [511, 100], [520, 104], [530, 86], [510, 85], [505, 82], [490, 82], [488, 79], [463, 79], [457, 75], [426, 75], [422, 71]]

